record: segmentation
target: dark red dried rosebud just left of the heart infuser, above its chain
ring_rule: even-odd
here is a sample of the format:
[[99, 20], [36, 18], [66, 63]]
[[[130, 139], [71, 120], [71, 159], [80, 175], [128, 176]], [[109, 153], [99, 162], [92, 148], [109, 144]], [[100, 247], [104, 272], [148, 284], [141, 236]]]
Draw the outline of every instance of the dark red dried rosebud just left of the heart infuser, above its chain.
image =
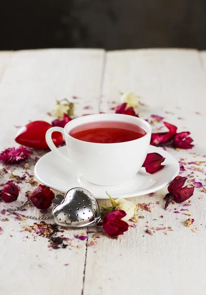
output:
[[47, 209], [52, 205], [54, 197], [55, 194], [48, 186], [39, 184], [32, 192], [30, 200], [38, 209]]

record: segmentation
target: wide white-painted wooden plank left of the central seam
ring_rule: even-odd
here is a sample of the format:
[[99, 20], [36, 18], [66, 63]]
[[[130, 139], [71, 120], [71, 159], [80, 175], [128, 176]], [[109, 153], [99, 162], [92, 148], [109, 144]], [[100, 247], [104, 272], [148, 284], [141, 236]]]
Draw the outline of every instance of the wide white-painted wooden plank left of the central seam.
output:
[[[37, 119], [51, 121], [46, 113], [54, 109], [55, 99], [70, 99], [75, 95], [80, 97], [74, 99], [77, 114], [97, 112], [103, 63], [103, 50], [16, 52], [0, 84], [3, 110], [0, 116], [3, 126], [1, 150], [15, 146], [17, 129], [14, 124], [25, 125], [29, 120]], [[91, 110], [83, 110], [85, 105], [90, 105]], [[19, 168], [14, 174], [21, 175], [22, 171]], [[29, 172], [33, 172], [33, 166]], [[1, 183], [9, 179], [8, 175], [1, 175]], [[25, 202], [27, 190], [33, 190], [33, 187], [24, 183], [15, 205]], [[13, 204], [1, 203], [0, 211]], [[38, 216], [39, 210], [30, 207], [26, 213]], [[8, 217], [9, 222], [0, 221], [3, 228], [0, 236], [1, 294], [82, 294], [86, 241], [74, 236], [85, 230], [64, 233], [64, 236], [73, 239], [72, 244], [66, 249], [51, 250], [46, 238], [34, 238], [27, 232], [20, 232], [24, 224], [33, 224], [32, 220], [16, 221], [14, 216], [0, 215], [0, 219], [3, 217]]]

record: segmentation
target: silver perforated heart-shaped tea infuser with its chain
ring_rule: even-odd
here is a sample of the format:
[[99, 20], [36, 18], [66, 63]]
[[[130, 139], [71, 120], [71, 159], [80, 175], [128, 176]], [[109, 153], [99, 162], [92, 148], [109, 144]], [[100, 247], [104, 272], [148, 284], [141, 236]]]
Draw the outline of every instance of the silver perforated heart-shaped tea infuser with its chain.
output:
[[[28, 200], [23, 206], [9, 208], [7, 211], [14, 214], [15, 211], [22, 210], [29, 202], [31, 201]], [[19, 213], [18, 215], [35, 220], [53, 218], [58, 225], [73, 229], [95, 225], [101, 219], [96, 199], [88, 190], [81, 187], [70, 189], [66, 192], [65, 197], [57, 195], [52, 203], [57, 205], [52, 210], [52, 217], [41, 218]]]

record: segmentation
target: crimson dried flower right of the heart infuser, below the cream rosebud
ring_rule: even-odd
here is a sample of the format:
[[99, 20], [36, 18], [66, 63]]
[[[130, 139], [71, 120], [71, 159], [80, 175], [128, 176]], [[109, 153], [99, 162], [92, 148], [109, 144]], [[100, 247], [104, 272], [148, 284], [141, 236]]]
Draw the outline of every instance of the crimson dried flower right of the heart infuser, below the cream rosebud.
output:
[[126, 213], [123, 210], [114, 210], [104, 216], [102, 226], [108, 236], [117, 237], [128, 230], [128, 223], [121, 220], [124, 216]]

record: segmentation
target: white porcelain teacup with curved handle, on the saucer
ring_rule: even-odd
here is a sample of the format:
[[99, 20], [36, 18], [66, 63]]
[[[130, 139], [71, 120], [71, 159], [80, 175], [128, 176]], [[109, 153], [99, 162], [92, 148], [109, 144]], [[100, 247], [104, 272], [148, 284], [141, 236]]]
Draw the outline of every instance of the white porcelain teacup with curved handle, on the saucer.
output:
[[[122, 121], [143, 128], [143, 137], [122, 143], [100, 144], [81, 141], [69, 135], [76, 126], [95, 121]], [[68, 157], [65, 157], [52, 141], [52, 133], [61, 132], [66, 141]], [[72, 164], [89, 182], [97, 185], [118, 185], [129, 181], [142, 167], [151, 138], [150, 124], [134, 116], [122, 114], [95, 114], [79, 117], [64, 128], [52, 127], [46, 133], [46, 141], [53, 152]], [[52, 163], [51, 163], [52, 165]]]

